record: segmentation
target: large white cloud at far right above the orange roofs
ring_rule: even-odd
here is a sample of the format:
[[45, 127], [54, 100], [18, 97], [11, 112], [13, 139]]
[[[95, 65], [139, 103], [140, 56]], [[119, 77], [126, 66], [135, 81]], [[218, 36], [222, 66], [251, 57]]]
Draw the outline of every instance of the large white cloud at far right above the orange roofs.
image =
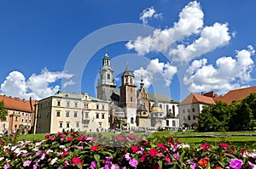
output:
[[195, 60], [183, 77], [190, 92], [216, 90], [226, 93], [229, 90], [244, 87], [251, 81], [253, 71], [252, 46], [236, 51], [236, 58], [222, 57], [216, 60], [216, 67], [207, 65], [207, 59]]

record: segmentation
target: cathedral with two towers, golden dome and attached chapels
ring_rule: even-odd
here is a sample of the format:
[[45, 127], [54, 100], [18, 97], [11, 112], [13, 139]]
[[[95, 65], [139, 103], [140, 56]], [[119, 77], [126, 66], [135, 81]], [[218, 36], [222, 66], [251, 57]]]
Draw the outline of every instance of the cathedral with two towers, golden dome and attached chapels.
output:
[[167, 95], [148, 93], [143, 79], [139, 87], [128, 64], [119, 89], [113, 77], [108, 51], [102, 59], [97, 81], [97, 98], [109, 102], [110, 128], [145, 130], [177, 129], [178, 102]]

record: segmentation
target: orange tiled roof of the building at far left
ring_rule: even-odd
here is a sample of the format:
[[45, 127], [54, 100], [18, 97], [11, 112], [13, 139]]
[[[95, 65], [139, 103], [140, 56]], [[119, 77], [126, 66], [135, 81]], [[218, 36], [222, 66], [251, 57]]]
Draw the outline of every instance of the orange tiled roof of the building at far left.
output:
[[3, 101], [4, 108], [7, 110], [20, 110], [26, 112], [32, 112], [32, 110], [34, 110], [34, 104], [37, 102], [36, 100], [32, 100], [31, 110], [31, 104], [29, 100], [17, 99], [9, 96], [0, 95], [0, 101]]

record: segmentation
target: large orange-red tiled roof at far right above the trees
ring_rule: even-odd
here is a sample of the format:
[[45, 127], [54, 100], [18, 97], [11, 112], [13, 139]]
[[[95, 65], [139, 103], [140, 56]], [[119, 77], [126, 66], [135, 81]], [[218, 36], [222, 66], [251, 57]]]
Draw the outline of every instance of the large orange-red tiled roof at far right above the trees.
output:
[[214, 98], [215, 101], [222, 101], [226, 104], [233, 104], [239, 99], [246, 99], [251, 93], [256, 93], [256, 87], [245, 87], [236, 90], [230, 90], [224, 96]]

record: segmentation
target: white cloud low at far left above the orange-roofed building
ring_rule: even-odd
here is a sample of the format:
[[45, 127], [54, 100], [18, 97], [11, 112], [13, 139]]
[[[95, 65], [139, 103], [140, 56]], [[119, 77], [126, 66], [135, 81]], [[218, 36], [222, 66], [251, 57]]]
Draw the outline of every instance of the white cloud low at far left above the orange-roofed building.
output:
[[12, 71], [1, 84], [1, 92], [20, 99], [29, 99], [29, 97], [44, 99], [54, 95], [60, 89], [58, 85], [50, 87], [50, 83], [59, 79], [69, 79], [72, 76], [64, 71], [51, 72], [44, 69], [41, 74], [33, 74], [26, 81], [26, 77], [21, 72]]

